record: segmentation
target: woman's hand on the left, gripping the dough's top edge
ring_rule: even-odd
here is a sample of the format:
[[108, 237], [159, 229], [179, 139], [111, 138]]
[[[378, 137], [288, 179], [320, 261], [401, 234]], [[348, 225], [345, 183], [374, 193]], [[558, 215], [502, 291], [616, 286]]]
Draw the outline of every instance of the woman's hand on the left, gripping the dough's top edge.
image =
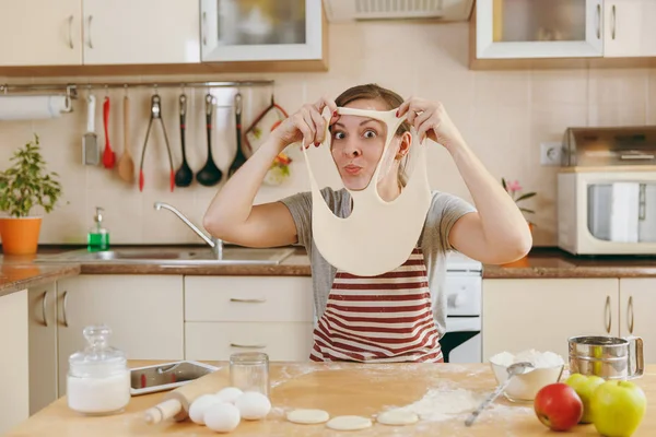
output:
[[328, 107], [332, 113], [330, 125], [339, 118], [337, 105], [328, 97], [319, 98], [315, 104], [305, 104], [296, 113], [284, 119], [271, 132], [272, 138], [283, 150], [289, 144], [303, 140], [303, 146], [311, 144], [318, 146], [326, 137], [326, 120], [321, 117], [324, 108]]

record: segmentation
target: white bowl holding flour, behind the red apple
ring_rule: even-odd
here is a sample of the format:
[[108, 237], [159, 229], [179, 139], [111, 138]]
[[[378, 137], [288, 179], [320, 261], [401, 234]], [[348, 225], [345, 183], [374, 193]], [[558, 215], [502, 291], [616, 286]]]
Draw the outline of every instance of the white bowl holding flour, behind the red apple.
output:
[[[490, 361], [496, 383], [501, 385], [508, 378], [507, 366]], [[559, 382], [565, 365], [552, 367], [536, 367], [535, 369], [513, 377], [504, 395], [513, 402], [532, 402], [540, 389], [550, 383]]]

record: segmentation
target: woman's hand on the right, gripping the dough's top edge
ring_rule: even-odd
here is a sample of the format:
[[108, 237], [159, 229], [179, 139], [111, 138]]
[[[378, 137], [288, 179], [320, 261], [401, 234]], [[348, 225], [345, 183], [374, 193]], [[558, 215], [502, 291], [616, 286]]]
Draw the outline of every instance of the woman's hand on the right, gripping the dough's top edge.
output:
[[397, 117], [406, 113], [408, 122], [414, 127], [421, 142], [427, 137], [447, 150], [465, 142], [442, 103], [410, 97], [399, 106]]

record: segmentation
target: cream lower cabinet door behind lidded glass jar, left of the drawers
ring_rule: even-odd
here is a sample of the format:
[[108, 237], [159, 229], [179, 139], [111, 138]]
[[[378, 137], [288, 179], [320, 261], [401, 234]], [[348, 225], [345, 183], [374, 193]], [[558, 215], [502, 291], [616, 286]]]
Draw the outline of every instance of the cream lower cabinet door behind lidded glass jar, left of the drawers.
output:
[[69, 356], [86, 346], [90, 324], [107, 324], [109, 344], [128, 359], [185, 358], [180, 275], [81, 275], [59, 281], [57, 297], [59, 397]]

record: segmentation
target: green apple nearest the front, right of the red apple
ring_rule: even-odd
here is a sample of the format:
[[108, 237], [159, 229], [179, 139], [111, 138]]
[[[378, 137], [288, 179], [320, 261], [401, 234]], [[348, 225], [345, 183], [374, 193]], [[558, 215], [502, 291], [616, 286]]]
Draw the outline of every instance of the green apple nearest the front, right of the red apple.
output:
[[647, 409], [645, 392], [631, 381], [606, 381], [593, 392], [590, 410], [597, 432], [606, 437], [629, 437]]

